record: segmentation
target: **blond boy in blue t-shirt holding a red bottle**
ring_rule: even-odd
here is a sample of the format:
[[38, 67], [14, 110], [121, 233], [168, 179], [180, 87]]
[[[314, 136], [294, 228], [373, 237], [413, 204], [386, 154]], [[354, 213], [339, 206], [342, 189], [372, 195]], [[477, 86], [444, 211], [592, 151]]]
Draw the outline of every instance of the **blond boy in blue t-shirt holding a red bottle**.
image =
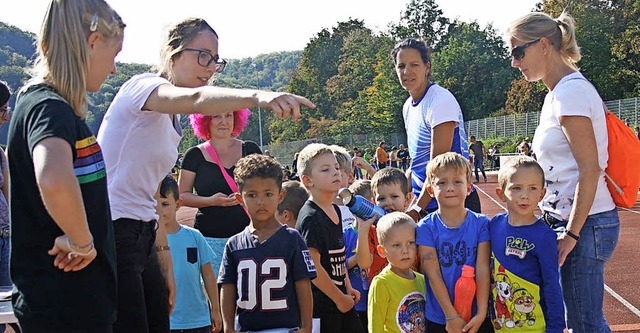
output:
[[[465, 208], [471, 193], [471, 165], [462, 155], [447, 152], [427, 165], [427, 191], [438, 210], [418, 223], [416, 243], [421, 269], [428, 277], [427, 332], [493, 332], [489, 305], [489, 219]], [[453, 307], [455, 284], [462, 266], [475, 267], [476, 297], [466, 322]]]

